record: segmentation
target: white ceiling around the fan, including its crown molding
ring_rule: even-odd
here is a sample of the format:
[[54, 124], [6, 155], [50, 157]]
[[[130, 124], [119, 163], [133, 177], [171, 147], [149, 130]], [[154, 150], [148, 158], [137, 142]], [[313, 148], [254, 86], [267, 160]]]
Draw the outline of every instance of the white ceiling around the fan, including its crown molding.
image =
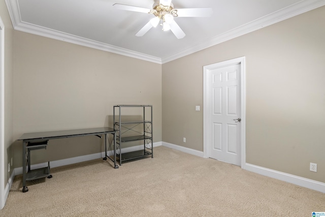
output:
[[154, 0], [5, 0], [16, 30], [126, 56], [166, 63], [325, 5], [325, 0], [173, 0], [174, 8], [211, 7], [211, 17], [176, 17], [186, 36], [151, 28], [153, 15], [113, 4], [152, 8]]

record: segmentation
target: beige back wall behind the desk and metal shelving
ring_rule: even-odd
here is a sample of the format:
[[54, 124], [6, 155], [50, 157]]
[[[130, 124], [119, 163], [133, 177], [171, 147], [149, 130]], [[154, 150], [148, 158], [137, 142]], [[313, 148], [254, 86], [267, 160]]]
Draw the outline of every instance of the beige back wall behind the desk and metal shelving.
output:
[[[161, 141], [161, 65], [19, 31], [14, 32], [14, 137], [23, 133], [112, 127], [113, 105], [153, 105]], [[103, 151], [98, 137], [51, 140], [33, 163]], [[21, 167], [21, 141], [13, 144]], [[32, 153], [33, 154], [33, 153]]]

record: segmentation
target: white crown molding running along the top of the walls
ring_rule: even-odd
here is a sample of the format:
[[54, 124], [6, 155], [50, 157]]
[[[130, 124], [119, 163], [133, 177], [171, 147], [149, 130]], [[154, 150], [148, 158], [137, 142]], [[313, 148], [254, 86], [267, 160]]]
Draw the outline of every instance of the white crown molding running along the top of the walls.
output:
[[261, 29], [263, 27], [272, 25], [274, 23], [283, 21], [285, 19], [297, 16], [299, 14], [308, 12], [310, 10], [319, 8], [325, 5], [325, 0], [303, 0], [289, 7], [278, 10], [274, 13], [271, 13], [267, 16], [258, 18], [252, 22], [246, 23], [237, 28], [231, 29], [228, 32], [222, 33], [218, 36], [210, 38], [204, 42], [201, 42], [197, 45], [194, 45], [190, 48], [178, 51], [169, 56], [159, 58], [144, 53], [139, 53], [136, 51], [116, 47], [113, 45], [105, 44], [98, 41], [89, 40], [86, 38], [74, 36], [71, 34], [59, 32], [50, 28], [45, 28], [43, 26], [38, 26], [30, 24], [21, 20], [18, 0], [5, 0], [13, 28], [22, 32], [39, 35], [47, 38], [52, 38], [60, 41], [65, 41], [73, 44], [78, 44], [85, 47], [90, 47], [94, 49], [99, 49], [111, 53], [116, 53], [128, 57], [133, 57], [137, 59], [142, 59], [145, 61], [150, 61], [157, 64], [165, 64], [169, 61], [181, 58], [183, 56], [198, 52], [200, 50], [206, 49], [208, 47], [220, 44], [222, 42], [237, 38], [239, 36], [251, 33], [255, 30]]

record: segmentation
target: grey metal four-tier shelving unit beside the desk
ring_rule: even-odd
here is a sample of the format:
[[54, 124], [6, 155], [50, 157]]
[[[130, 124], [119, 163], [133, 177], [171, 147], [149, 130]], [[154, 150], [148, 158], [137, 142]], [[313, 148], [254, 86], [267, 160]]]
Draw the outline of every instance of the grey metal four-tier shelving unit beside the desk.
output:
[[[127, 120], [128, 117], [140, 119]], [[148, 156], [153, 158], [152, 105], [114, 105], [113, 122], [116, 130], [116, 158], [120, 165], [127, 160]], [[134, 144], [131, 149], [136, 150], [122, 153], [124, 143]]]

